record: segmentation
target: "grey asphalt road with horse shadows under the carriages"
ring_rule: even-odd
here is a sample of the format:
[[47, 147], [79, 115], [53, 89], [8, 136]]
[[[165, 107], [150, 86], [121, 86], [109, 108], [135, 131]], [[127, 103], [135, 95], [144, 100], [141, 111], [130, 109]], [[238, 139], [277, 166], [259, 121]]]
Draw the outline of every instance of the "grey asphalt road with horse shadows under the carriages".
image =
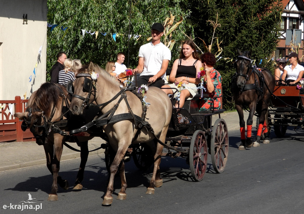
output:
[[[298, 133], [297, 133], [298, 132]], [[85, 169], [84, 188], [59, 188], [59, 200], [48, 202], [52, 176], [45, 165], [1, 172], [0, 213], [304, 213], [303, 130], [287, 131], [286, 138], [270, 144], [237, 150], [239, 131], [230, 131], [227, 166], [214, 173], [211, 158], [201, 182], [193, 182], [185, 159], [162, 158], [163, 186], [146, 195], [151, 170], [141, 172], [133, 160], [126, 163], [127, 199], [115, 200], [120, 179], [114, 181], [112, 206], [101, 206], [107, 171], [103, 156], [91, 156]], [[73, 186], [80, 159], [61, 162], [60, 175]], [[10, 209], [31, 194], [37, 211]], [[21, 202], [21, 203], [19, 203]], [[3, 205], [8, 205], [3, 209]]]

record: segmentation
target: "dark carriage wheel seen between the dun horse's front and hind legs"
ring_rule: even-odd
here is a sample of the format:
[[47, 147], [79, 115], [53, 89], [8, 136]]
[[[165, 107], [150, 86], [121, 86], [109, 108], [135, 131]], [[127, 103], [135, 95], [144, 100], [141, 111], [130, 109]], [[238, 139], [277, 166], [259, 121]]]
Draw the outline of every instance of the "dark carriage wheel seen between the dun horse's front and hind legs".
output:
[[135, 166], [141, 170], [147, 170], [154, 162], [150, 149], [146, 144], [139, 144], [133, 148], [133, 160]]

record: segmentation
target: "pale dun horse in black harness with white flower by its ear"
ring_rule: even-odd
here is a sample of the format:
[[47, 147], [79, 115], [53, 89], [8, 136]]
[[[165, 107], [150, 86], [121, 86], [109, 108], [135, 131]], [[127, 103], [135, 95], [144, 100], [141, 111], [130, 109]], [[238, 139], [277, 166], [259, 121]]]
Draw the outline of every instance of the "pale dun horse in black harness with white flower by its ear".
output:
[[[98, 78], [96, 78], [96, 73], [98, 73]], [[102, 113], [109, 115], [107, 117], [109, 119], [108, 122], [103, 124], [102, 128], [109, 138], [110, 146], [116, 151], [116, 156], [110, 166], [109, 185], [102, 204], [110, 205], [113, 201], [113, 181], [120, 163], [121, 190], [117, 199], [126, 199], [127, 184], [125, 166], [122, 162], [126, 150], [131, 143], [151, 142], [153, 139], [152, 145], [154, 147], [156, 145], [156, 150], [154, 149], [155, 151], [153, 152], [154, 170], [146, 194], [154, 194], [154, 186], [160, 187], [162, 185], [159, 165], [163, 149], [163, 145], [157, 143], [155, 136], [162, 142], [165, 141], [172, 112], [172, 105], [168, 95], [161, 89], [150, 87], [145, 94], [146, 103], [150, 104], [146, 110], [146, 119], [144, 122], [139, 122], [136, 118], [141, 119], [145, 115], [142, 101], [133, 92], [122, 90], [118, 82], [98, 65], [91, 62], [87, 68], [82, 68], [75, 76], [76, 80], [73, 83], [74, 95], [70, 105], [71, 112], [75, 115], [80, 115], [88, 102], [95, 101]], [[111, 122], [114, 117], [119, 118], [120, 115], [123, 117], [128, 114], [131, 115], [131, 119]], [[149, 127], [152, 127], [154, 132], [151, 132]]]

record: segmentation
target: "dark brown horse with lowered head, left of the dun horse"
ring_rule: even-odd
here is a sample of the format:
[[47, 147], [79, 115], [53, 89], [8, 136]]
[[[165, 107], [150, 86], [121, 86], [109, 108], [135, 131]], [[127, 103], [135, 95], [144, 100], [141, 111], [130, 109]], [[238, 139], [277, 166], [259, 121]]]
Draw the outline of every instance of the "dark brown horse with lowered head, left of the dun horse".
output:
[[[44, 83], [30, 96], [26, 112], [14, 114], [15, 117], [23, 120], [22, 129], [29, 127], [36, 138], [36, 143], [38, 145], [43, 145], [47, 158], [47, 168], [53, 175], [53, 185], [48, 197], [49, 201], [58, 200], [57, 183], [64, 189], [69, 188], [68, 182], [58, 175], [63, 143], [75, 142], [74, 139], [71, 139], [70, 136], [67, 135], [67, 114], [62, 115], [62, 112], [68, 110], [65, 102], [67, 101], [67, 96], [67, 91], [62, 85], [48, 82]], [[78, 119], [69, 122], [73, 124], [77, 123], [77, 121]], [[83, 180], [85, 164], [89, 153], [88, 139], [91, 138], [92, 137], [78, 138], [78, 143], [81, 148], [81, 163], [73, 190], [82, 189], [81, 181]]]

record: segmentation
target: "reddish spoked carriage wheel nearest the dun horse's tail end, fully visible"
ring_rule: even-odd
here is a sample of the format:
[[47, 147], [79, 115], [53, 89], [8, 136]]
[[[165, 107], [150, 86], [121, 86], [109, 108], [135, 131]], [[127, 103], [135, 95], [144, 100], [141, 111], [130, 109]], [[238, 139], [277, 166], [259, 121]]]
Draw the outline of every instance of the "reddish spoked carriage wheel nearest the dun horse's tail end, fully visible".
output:
[[201, 181], [207, 168], [207, 141], [202, 130], [196, 130], [192, 136], [189, 150], [191, 175], [195, 181]]

